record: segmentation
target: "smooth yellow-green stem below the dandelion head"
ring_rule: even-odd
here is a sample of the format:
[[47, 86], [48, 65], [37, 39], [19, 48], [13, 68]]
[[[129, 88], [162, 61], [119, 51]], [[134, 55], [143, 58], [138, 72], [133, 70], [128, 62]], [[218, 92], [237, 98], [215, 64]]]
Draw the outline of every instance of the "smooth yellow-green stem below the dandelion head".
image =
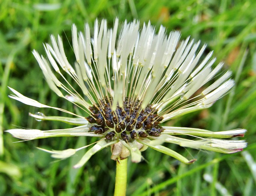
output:
[[116, 160], [116, 184], [114, 196], [126, 195], [127, 159]]

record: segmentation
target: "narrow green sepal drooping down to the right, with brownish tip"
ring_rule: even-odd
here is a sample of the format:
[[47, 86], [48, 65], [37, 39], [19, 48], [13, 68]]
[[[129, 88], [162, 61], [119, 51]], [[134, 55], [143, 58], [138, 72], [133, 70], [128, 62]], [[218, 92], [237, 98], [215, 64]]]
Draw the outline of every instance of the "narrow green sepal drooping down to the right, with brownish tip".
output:
[[192, 160], [188, 160], [187, 158], [185, 158], [184, 156], [182, 156], [181, 154], [179, 154], [178, 152], [175, 152], [174, 150], [171, 150], [170, 148], [167, 148], [167, 147], [164, 147], [162, 145], [156, 145], [156, 146], [153, 146], [153, 145], [150, 145], [150, 143], [146, 143], [144, 141], [138, 141], [154, 150], [157, 150], [159, 152], [162, 152], [164, 154], [167, 154], [169, 156], [172, 156], [173, 158], [176, 158], [178, 160], [180, 160], [181, 162], [183, 163], [186, 163], [186, 164], [191, 164], [193, 163], [196, 159], [192, 159]]

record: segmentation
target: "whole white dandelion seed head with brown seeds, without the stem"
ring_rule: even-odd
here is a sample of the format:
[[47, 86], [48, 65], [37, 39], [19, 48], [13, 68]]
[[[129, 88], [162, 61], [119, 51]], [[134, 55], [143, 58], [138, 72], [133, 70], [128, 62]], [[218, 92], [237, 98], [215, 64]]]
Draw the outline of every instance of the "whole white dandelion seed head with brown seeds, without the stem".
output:
[[[91, 33], [92, 32], [92, 33]], [[29, 114], [44, 121], [61, 121], [74, 125], [70, 129], [38, 130], [11, 129], [7, 132], [23, 140], [48, 137], [98, 137], [81, 160], [83, 166], [90, 157], [110, 147], [113, 160], [131, 156], [140, 162], [141, 152], [148, 147], [168, 154], [181, 162], [192, 163], [163, 143], [182, 147], [211, 150], [221, 153], [239, 152], [246, 147], [245, 129], [212, 132], [187, 127], [168, 127], [163, 123], [184, 114], [211, 107], [234, 86], [231, 71], [221, 72], [223, 63], [212, 67], [212, 52], [201, 59], [206, 45], [187, 38], [180, 40], [180, 32], [166, 35], [163, 26], [157, 31], [150, 23], [137, 20], [119, 24], [112, 29], [106, 20], [95, 21], [94, 29], [85, 25], [84, 32], [72, 26], [72, 47], [76, 62], [66, 58], [62, 38], [51, 36], [52, 44], [44, 44], [46, 57], [33, 54], [49, 87], [62, 99], [76, 105], [84, 115], [44, 105], [10, 88], [16, 99], [39, 108], [52, 108], [73, 117]], [[75, 89], [73, 82], [79, 88]], [[218, 77], [213, 81], [213, 78]], [[211, 85], [204, 87], [206, 83]], [[183, 136], [188, 136], [184, 138]], [[182, 136], [182, 137], [179, 137]], [[88, 146], [67, 150], [44, 150], [54, 158], [68, 158]], [[41, 149], [41, 148], [40, 148]]]

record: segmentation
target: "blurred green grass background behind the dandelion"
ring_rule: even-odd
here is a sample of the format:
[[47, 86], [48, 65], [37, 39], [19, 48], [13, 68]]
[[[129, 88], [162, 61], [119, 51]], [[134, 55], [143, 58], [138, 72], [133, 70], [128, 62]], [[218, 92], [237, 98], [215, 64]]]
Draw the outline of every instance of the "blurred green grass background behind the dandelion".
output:
[[[70, 196], [112, 195], [115, 162], [110, 150], [94, 155], [81, 169], [72, 165], [82, 156], [53, 162], [50, 155], [35, 147], [62, 150], [81, 147], [93, 139], [56, 138], [19, 141], [3, 133], [18, 125], [28, 128], [64, 128], [61, 123], [37, 122], [28, 112], [58, 115], [58, 111], [37, 109], [8, 98], [7, 86], [47, 105], [74, 110], [52, 93], [43, 79], [31, 51], [43, 53], [43, 42], [50, 34], [66, 40], [72, 61], [72, 23], [83, 30], [84, 22], [95, 18], [114, 18], [163, 24], [167, 32], [180, 30], [182, 38], [191, 36], [208, 44], [218, 61], [233, 71], [236, 87], [208, 110], [170, 122], [182, 127], [212, 131], [248, 129], [248, 147], [242, 153], [223, 155], [170, 145], [189, 158], [192, 165], [146, 150], [147, 161], [128, 165], [127, 195], [244, 195], [256, 192], [256, 2], [254, 0], [2, 0], [0, 4], [0, 195]], [[73, 58], [73, 59], [72, 59]], [[3, 143], [2, 143], [3, 142]], [[212, 180], [209, 180], [209, 176]], [[208, 178], [207, 178], [208, 177]], [[226, 192], [223, 192], [226, 191]]]

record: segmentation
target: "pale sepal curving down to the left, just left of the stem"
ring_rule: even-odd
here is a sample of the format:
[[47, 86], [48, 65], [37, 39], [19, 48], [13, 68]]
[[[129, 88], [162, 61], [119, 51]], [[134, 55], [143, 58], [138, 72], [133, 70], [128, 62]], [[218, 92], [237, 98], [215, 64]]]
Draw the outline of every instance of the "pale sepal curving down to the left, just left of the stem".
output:
[[114, 143], [117, 143], [117, 142], [118, 142], [117, 140], [114, 140], [112, 142], [106, 143], [106, 141], [104, 139], [98, 141], [96, 143], [96, 145], [94, 145], [92, 148], [90, 148], [90, 150], [88, 150], [84, 154], [84, 156], [81, 158], [81, 160], [76, 165], [74, 165], [74, 168], [82, 167], [91, 158], [91, 156], [94, 155], [96, 152], [98, 152], [98, 151], [102, 150], [103, 148], [106, 148]]

